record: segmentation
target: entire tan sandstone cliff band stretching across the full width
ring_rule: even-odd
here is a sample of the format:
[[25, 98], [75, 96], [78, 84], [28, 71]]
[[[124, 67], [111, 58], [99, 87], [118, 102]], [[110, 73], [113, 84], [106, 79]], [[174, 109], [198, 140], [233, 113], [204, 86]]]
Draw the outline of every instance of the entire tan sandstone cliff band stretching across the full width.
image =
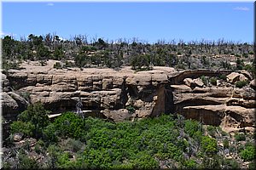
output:
[[[3, 79], [3, 116], [14, 118], [28, 102], [40, 101], [53, 113], [76, 111], [82, 101], [84, 116], [100, 116], [114, 122], [161, 113], [178, 112], [186, 118], [223, 127], [253, 127], [255, 82], [247, 71], [175, 71], [154, 67], [153, 71], [112, 69], [52, 69], [33, 63], [22, 70], [9, 70]], [[231, 74], [230, 74], [231, 73]], [[227, 75], [226, 81], [205, 86], [200, 77]], [[238, 80], [251, 81], [236, 88]]]

